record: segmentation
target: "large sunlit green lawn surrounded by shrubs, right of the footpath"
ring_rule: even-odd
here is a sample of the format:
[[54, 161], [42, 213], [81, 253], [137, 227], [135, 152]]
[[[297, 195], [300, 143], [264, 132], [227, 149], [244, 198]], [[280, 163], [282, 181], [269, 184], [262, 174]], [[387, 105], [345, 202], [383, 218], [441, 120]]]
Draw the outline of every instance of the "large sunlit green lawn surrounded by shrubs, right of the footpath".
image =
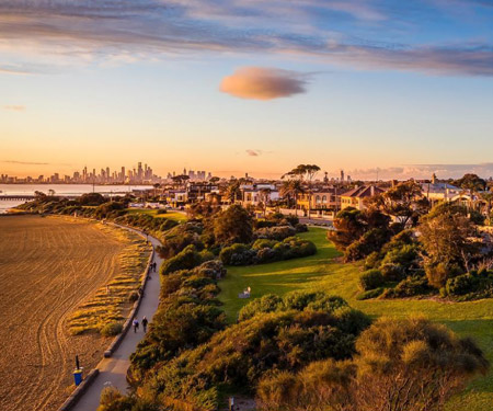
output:
[[[244, 288], [252, 288], [252, 298], [274, 293], [283, 295], [294, 289], [324, 289], [344, 297], [353, 307], [370, 316], [406, 317], [424, 315], [446, 323], [460, 335], [470, 335], [485, 351], [493, 363], [493, 299], [472, 302], [439, 302], [434, 300], [397, 299], [358, 301], [358, 264], [334, 262], [339, 253], [325, 240], [325, 230], [310, 228], [300, 237], [317, 244], [316, 255], [271, 264], [228, 267], [228, 275], [220, 282], [219, 299], [230, 321], [234, 321], [240, 308], [249, 300], [238, 298]], [[492, 366], [493, 367], [493, 366]], [[493, 373], [471, 384], [465, 395], [448, 407], [450, 411], [480, 411], [493, 409]]]

